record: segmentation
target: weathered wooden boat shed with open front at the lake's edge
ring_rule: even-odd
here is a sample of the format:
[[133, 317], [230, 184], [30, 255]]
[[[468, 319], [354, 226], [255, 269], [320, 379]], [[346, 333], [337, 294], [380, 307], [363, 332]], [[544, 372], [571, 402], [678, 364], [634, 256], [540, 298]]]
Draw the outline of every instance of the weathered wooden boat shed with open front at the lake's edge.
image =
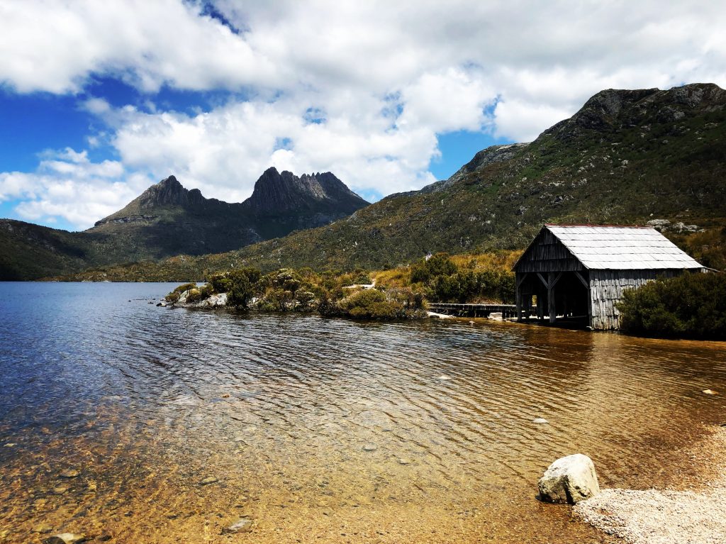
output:
[[618, 328], [623, 291], [656, 277], [706, 272], [653, 227], [545, 224], [515, 263], [518, 320]]

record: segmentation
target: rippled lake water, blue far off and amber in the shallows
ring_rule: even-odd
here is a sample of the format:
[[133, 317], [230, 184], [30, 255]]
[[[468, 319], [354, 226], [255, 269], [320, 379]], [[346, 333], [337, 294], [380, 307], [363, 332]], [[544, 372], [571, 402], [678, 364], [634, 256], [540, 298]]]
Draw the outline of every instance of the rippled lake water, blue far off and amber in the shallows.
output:
[[668, 485], [726, 423], [724, 344], [150, 304], [175, 285], [0, 283], [0, 542], [610, 542], [544, 468]]

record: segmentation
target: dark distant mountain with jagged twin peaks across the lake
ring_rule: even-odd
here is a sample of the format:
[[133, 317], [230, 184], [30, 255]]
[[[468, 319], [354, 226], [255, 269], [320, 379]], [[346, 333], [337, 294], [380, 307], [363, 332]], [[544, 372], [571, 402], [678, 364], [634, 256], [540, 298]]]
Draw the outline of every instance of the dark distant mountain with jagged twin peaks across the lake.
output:
[[366, 205], [330, 172], [298, 177], [268, 169], [242, 203], [204, 198], [169, 176], [85, 232], [0, 220], [0, 280], [230, 251], [329, 224]]

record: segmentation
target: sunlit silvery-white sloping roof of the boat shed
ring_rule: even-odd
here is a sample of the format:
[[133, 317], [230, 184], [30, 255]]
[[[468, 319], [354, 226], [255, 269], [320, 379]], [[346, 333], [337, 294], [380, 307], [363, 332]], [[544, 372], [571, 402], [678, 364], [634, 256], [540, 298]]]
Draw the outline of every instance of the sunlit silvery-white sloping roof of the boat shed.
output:
[[703, 268], [653, 227], [545, 225], [589, 269]]

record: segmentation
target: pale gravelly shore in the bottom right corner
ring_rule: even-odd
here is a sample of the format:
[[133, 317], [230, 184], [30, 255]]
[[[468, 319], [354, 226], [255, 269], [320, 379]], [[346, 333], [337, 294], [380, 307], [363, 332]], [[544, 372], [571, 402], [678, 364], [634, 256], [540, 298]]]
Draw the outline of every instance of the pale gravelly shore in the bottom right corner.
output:
[[700, 478], [675, 475], [667, 490], [603, 490], [575, 515], [631, 544], [726, 542], [726, 429], [714, 429], [688, 457], [702, 467]]

